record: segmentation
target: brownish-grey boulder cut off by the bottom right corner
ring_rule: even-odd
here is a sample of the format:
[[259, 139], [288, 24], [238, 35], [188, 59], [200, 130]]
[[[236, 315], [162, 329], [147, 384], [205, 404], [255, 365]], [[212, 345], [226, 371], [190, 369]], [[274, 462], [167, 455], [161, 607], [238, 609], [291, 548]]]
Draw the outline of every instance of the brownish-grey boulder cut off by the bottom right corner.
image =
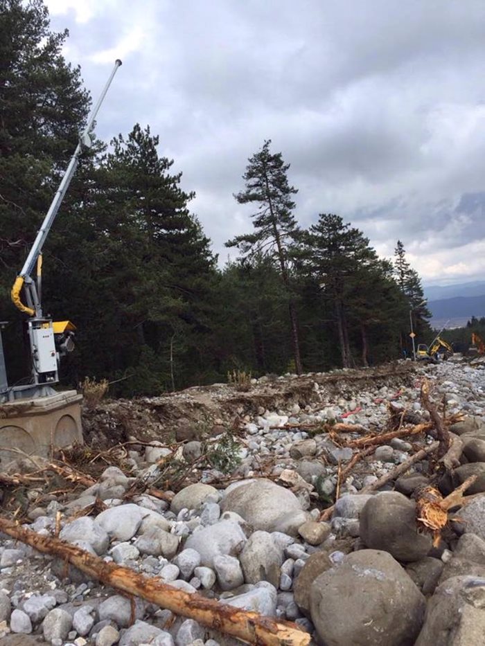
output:
[[453, 577], [428, 602], [415, 646], [478, 646], [484, 636], [485, 578]]

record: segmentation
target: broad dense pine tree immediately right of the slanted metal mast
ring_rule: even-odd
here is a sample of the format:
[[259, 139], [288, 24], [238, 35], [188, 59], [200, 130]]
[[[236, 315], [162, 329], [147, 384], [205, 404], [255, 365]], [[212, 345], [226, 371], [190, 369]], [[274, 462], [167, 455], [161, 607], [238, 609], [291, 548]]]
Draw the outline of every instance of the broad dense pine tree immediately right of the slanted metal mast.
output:
[[80, 176], [78, 201], [54, 236], [73, 242], [55, 250], [50, 297], [58, 312], [69, 305], [82, 330], [77, 368], [130, 374], [125, 394], [186, 386], [203, 378], [208, 362], [215, 258], [188, 210], [193, 194], [180, 188], [158, 143], [139, 125], [115, 138], [98, 167]]

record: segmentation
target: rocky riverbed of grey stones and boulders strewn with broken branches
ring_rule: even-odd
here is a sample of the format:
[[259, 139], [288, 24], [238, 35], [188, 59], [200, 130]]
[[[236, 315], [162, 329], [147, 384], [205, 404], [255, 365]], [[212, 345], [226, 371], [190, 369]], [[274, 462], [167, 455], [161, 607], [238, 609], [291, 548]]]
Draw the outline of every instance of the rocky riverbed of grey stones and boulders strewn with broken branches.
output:
[[[442, 418], [465, 415], [450, 427], [460, 442], [459, 463], [446, 472], [426, 458], [373, 491], [379, 478], [434, 438], [409, 433], [370, 449], [355, 440], [428, 422], [423, 378]], [[229, 390], [191, 389], [173, 401], [137, 402], [129, 433], [112, 426], [123, 447], [96, 449], [76, 463], [89, 486], [67, 486], [58, 475], [48, 485], [10, 487], [3, 515], [23, 514], [39, 535], [55, 535], [57, 526], [60, 539], [188, 593], [294, 622], [322, 645], [485, 644], [481, 364], [401, 362], [380, 372], [288, 375], [258, 380], [246, 393]], [[184, 408], [184, 401], [191, 403]], [[195, 418], [201, 402], [206, 410]], [[143, 407], [170, 406], [180, 409], [177, 419], [143, 416]], [[90, 413], [93, 445], [96, 420], [104, 420], [103, 450], [115, 407]], [[358, 456], [362, 447], [367, 451]], [[105, 467], [94, 474], [93, 463]], [[42, 467], [48, 460], [2, 465], [10, 475]], [[475, 497], [450, 514], [455, 520], [433, 544], [430, 532], [418, 531], [416, 487], [432, 483], [446, 496], [471, 475], [477, 478], [466, 493]], [[0, 638], [6, 646], [239, 643], [130, 600], [6, 535]]]

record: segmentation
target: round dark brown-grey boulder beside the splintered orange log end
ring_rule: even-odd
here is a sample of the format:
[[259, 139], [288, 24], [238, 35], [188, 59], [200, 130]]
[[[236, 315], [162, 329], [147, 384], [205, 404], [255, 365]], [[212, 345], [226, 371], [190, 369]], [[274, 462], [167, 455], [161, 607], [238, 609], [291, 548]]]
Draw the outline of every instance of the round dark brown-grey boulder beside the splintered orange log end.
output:
[[403, 562], [423, 559], [432, 547], [430, 535], [416, 529], [416, 504], [398, 492], [381, 492], [367, 501], [360, 514], [360, 538], [367, 547]]

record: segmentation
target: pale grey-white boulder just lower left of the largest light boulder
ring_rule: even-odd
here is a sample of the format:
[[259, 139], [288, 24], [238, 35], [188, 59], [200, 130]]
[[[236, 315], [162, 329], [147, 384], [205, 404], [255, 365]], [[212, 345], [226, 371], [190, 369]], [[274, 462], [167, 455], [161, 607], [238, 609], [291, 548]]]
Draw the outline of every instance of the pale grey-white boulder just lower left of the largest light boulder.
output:
[[200, 554], [200, 562], [203, 566], [213, 568], [215, 556], [238, 555], [246, 540], [246, 535], [239, 523], [223, 520], [194, 532], [186, 540], [185, 547], [192, 548]]

